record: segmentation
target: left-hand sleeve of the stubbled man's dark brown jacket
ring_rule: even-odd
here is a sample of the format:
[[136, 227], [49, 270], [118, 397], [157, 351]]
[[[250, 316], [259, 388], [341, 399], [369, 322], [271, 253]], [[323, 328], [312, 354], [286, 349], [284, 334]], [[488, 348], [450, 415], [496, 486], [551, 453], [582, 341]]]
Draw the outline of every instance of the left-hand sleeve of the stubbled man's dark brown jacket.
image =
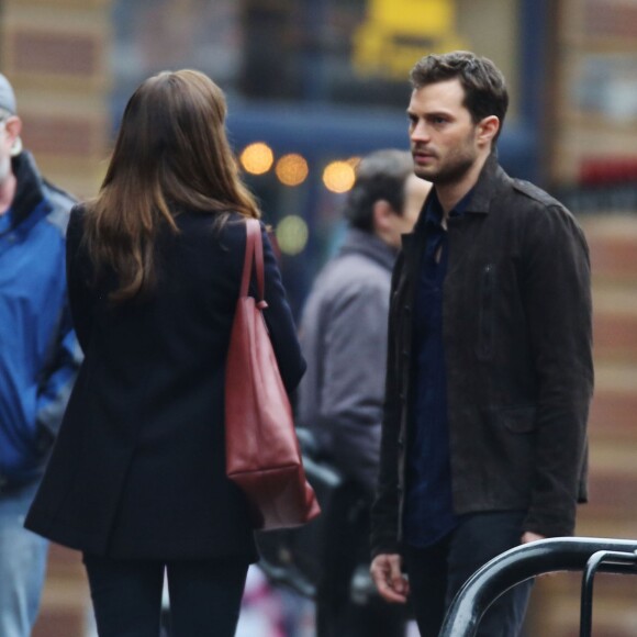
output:
[[390, 311], [388, 321], [387, 378], [380, 444], [380, 472], [376, 500], [371, 507], [371, 556], [400, 552], [399, 543], [399, 436], [400, 436], [400, 378], [396, 348], [395, 313], [396, 281], [400, 280], [404, 257], [401, 253], [392, 275]]

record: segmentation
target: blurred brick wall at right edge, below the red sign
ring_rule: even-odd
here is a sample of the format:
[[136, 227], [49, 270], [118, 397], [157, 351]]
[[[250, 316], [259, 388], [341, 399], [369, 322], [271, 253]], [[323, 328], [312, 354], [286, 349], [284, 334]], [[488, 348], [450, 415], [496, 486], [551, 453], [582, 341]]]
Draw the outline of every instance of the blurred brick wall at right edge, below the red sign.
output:
[[[583, 220], [593, 272], [595, 394], [590, 417], [590, 502], [578, 535], [637, 537], [637, 217]], [[579, 635], [581, 573], [537, 581], [529, 636]], [[637, 575], [595, 578], [593, 634], [637, 634]]]

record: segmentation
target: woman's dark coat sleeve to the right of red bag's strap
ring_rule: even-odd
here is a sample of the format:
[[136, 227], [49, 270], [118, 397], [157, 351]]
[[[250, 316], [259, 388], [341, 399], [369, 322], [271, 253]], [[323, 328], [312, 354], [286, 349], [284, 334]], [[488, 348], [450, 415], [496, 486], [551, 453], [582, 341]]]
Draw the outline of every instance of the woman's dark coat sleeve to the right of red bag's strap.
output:
[[297, 389], [305, 372], [305, 360], [301, 355], [297, 327], [286, 297], [277, 258], [262, 224], [261, 238], [264, 242], [265, 295], [268, 304], [264, 310], [264, 317], [268, 325], [281, 379], [288, 393], [291, 393]]

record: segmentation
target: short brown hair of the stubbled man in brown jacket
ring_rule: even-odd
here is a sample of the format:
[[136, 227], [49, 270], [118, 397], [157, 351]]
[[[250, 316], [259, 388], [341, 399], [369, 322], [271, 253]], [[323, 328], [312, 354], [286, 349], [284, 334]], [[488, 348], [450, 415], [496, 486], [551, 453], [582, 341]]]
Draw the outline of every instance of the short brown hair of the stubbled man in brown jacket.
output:
[[496, 115], [502, 131], [509, 108], [509, 93], [502, 71], [489, 58], [478, 57], [468, 51], [426, 55], [412, 68], [410, 78], [415, 90], [427, 85], [458, 79], [465, 89], [463, 105], [471, 114], [473, 123]]

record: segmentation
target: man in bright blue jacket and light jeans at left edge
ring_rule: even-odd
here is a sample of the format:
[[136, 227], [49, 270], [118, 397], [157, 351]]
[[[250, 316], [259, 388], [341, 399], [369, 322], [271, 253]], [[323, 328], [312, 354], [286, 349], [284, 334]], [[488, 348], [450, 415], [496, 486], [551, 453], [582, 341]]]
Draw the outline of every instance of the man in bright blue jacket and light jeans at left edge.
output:
[[29, 637], [48, 545], [23, 528], [81, 358], [70, 324], [65, 232], [74, 200], [22, 149], [0, 74], [0, 635]]

